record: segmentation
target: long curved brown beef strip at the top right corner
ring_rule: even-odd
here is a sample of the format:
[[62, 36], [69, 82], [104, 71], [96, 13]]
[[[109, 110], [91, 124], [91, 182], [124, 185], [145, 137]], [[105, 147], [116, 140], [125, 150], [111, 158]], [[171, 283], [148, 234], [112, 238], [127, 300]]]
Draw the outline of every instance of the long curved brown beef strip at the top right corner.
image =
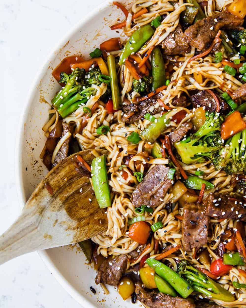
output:
[[231, 13], [220, 12], [198, 20], [185, 30], [185, 35], [191, 46], [195, 47], [197, 51], [203, 51], [210, 46], [220, 29], [240, 30], [243, 29], [241, 27], [243, 22], [244, 19], [240, 19]]

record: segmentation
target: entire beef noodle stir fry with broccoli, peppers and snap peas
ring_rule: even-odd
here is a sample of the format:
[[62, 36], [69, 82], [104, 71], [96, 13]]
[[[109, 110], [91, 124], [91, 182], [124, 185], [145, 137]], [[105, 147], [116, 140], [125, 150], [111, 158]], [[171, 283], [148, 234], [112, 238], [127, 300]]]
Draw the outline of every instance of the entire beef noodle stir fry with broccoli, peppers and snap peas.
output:
[[112, 38], [53, 71], [40, 156], [49, 170], [94, 157], [77, 155], [108, 218], [79, 243], [90, 289], [150, 308], [246, 307], [246, 2], [112, 10]]

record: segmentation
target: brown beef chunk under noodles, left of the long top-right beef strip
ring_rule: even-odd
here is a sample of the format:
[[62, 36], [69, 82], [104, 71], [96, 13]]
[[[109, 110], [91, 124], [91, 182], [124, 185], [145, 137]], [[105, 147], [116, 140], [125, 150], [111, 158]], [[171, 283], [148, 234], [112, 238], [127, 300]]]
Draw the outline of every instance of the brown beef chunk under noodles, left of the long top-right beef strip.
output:
[[184, 55], [190, 50], [188, 39], [180, 24], [162, 42], [164, 55]]

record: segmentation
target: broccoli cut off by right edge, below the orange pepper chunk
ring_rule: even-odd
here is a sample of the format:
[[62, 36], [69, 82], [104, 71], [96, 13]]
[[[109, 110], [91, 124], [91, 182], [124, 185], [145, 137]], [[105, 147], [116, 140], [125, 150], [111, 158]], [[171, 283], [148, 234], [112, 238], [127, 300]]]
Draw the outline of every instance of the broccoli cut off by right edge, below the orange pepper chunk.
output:
[[228, 139], [219, 155], [213, 160], [216, 170], [221, 168], [226, 174], [246, 173], [246, 129]]

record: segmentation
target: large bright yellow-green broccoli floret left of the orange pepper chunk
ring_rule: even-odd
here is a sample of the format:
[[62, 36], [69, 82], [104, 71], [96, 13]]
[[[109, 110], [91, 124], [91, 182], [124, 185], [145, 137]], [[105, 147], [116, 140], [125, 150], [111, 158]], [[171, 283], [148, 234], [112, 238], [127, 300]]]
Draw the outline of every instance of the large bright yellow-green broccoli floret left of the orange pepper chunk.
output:
[[204, 156], [214, 159], [222, 148], [220, 128], [224, 119], [214, 112], [205, 113], [204, 124], [188, 138], [175, 142], [174, 146], [185, 164], [204, 161]]

